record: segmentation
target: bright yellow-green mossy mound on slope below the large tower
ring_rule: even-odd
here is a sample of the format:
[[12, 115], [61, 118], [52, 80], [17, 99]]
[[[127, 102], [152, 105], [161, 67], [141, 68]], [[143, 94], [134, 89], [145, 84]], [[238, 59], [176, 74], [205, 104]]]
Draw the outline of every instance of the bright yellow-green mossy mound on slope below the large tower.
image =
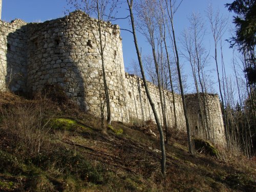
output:
[[56, 118], [51, 120], [51, 126], [53, 129], [60, 129], [66, 131], [75, 130], [91, 130], [89, 127], [82, 125], [74, 119], [70, 118]]

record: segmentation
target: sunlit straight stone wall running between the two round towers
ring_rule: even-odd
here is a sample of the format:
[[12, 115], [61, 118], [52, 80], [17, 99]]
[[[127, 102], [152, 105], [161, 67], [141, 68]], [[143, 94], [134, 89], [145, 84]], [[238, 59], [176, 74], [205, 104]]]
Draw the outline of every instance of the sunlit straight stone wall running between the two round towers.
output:
[[[152, 119], [155, 121], [155, 117], [151, 108], [150, 103], [148, 102], [144, 84], [142, 79], [134, 75], [125, 74], [126, 81], [126, 103], [127, 103], [127, 113], [129, 114], [130, 121], [138, 122], [140, 120]], [[161, 111], [161, 102], [158, 88], [151, 82], [147, 83], [150, 90], [152, 100], [155, 104], [158, 117], [163, 124], [163, 117]], [[175, 125], [174, 120], [174, 107], [173, 107], [173, 96], [172, 93], [164, 91], [165, 97], [165, 111], [167, 118], [167, 125], [173, 127]], [[182, 108], [182, 102], [180, 95], [175, 95], [176, 103], [176, 114], [177, 114], [177, 124], [178, 129], [184, 130], [185, 128], [185, 119], [184, 112]]]

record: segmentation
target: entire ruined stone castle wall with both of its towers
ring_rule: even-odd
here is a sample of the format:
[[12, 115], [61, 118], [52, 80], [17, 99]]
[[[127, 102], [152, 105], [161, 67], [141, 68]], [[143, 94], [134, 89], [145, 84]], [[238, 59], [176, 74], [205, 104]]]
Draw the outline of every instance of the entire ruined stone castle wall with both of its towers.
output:
[[[124, 72], [122, 39], [117, 25], [101, 22], [106, 80], [112, 119], [154, 120], [142, 79]], [[97, 20], [81, 11], [44, 23], [0, 20], [0, 90], [38, 92], [58, 84], [80, 108], [100, 117], [105, 109]], [[148, 82], [162, 121], [158, 88]], [[168, 127], [174, 127], [172, 93], [164, 91]], [[208, 94], [209, 139], [225, 143], [218, 95]], [[185, 131], [181, 96], [175, 94], [178, 129]], [[187, 95], [191, 133], [205, 138], [196, 95]]]

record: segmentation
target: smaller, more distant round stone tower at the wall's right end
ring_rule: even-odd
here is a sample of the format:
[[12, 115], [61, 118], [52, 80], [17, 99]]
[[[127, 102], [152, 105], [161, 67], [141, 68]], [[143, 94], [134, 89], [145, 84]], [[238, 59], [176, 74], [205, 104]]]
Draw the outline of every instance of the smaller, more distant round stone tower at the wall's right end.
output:
[[[225, 144], [225, 131], [218, 94], [204, 94], [203, 98], [203, 94], [200, 93], [200, 100], [202, 110], [200, 110], [197, 94], [185, 95], [191, 135], [208, 139], [214, 143]], [[204, 116], [206, 118], [203, 123]]]

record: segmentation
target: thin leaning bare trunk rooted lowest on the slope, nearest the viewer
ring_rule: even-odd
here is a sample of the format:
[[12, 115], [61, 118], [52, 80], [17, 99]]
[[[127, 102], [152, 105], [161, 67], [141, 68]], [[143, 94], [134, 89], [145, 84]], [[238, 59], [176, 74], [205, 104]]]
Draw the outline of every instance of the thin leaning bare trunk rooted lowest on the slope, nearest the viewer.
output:
[[130, 1], [126, 0], [126, 1], [127, 1], [128, 6], [129, 6], [129, 11], [130, 11], [130, 16], [131, 16], [131, 23], [132, 23], [132, 29], [133, 29], [134, 44], [135, 44], [135, 48], [136, 48], [136, 52], [137, 52], [137, 57], [138, 57], [139, 65], [140, 65], [140, 71], [141, 71], [141, 75], [142, 75], [142, 80], [143, 80], [143, 83], [144, 83], [144, 86], [145, 86], [145, 91], [146, 91], [147, 99], [150, 102], [152, 111], [154, 113], [155, 120], [156, 120], [157, 127], [158, 127], [158, 132], [159, 132], [159, 135], [160, 135], [160, 146], [161, 146], [161, 155], [162, 155], [162, 159], [161, 159], [161, 172], [162, 172], [163, 175], [165, 175], [165, 172], [166, 172], [166, 168], [165, 168], [166, 156], [165, 156], [165, 146], [164, 146], [163, 130], [162, 130], [162, 126], [161, 126], [161, 123], [159, 121], [159, 118], [158, 118], [158, 115], [157, 115], [157, 112], [156, 112], [155, 104], [154, 104], [154, 102], [151, 99], [150, 91], [148, 90], [148, 87], [147, 87], [146, 77], [145, 77], [143, 66], [142, 66], [140, 51], [139, 51], [137, 37], [136, 37], [135, 25], [134, 25], [133, 0], [130, 0]]

